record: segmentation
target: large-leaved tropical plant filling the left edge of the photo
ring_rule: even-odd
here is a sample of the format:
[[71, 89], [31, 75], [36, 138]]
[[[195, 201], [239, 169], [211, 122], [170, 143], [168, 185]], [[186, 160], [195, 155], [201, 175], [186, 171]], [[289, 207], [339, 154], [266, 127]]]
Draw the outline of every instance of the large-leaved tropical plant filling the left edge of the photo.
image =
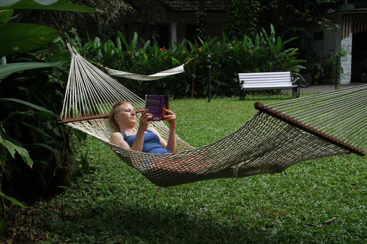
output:
[[[59, 116], [44, 108], [47, 107], [45, 101], [49, 102], [48, 105], [50, 106], [48, 107], [54, 108], [54, 104], [52, 103], [52, 96], [54, 94], [52, 94], [52, 90], [48, 90], [50, 88], [52, 89], [50, 84], [41, 84], [42, 82], [47, 82], [48, 77], [44, 74], [44, 70], [40, 69], [60, 66], [62, 63], [46, 63], [36, 58], [34, 59], [38, 62], [19, 63], [19, 61], [35, 60], [23, 55], [17, 55], [44, 47], [44, 45], [54, 40], [59, 32], [47, 26], [8, 23], [12, 18], [15, 18], [15, 16], [12, 17], [14, 10], [19, 9], [95, 11], [86, 6], [76, 6], [66, 0], [43, 0], [41, 3], [32, 0], [18, 0], [2, 1], [0, 3], [0, 97], [2, 97], [0, 101], [3, 107], [3, 112], [0, 115], [0, 199], [2, 213], [0, 218], [3, 218], [0, 223], [0, 236], [6, 228], [6, 208], [3, 197], [24, 206], [19, 201], [7, 197], [2, 193], [3, 174], [8, 178], [8, 184], [10, 189], [12, 189], [14, 172], [23, 170], [25, 174], [29, 168], [33, 167], [33, 171], [35, 171], [35, 166], [40, 167], [48, 164], [50, 153], [44, 153], [44, 150], [51, 151], [52, 154], [55, 154], [54, 158], [56, 162], [60, 161], [61, 163], [62, 157], [60, 156], [60, 152], [52, 148], [50, 144], [68, 145], [67, 140], [56, 140], [55, 137], [50, 135], [51, 131], [57, 136], [63, 137], [62, 130], [65, 129], [57, 128], [55, 120]], [[39, 55], [38, 52], [29, 53], [29, 55], [37, 57], [36, 55]], [[12, 56], [9, 56], [7, 59], [6, 55]], [[11, 63], [7, 63], [8, 61]], [[31, 82], [23, 83], [24, 80]], [[34, 158], [37, 160], [34, 160]], [[22, 167], [24, 163], [28, 168]]]

